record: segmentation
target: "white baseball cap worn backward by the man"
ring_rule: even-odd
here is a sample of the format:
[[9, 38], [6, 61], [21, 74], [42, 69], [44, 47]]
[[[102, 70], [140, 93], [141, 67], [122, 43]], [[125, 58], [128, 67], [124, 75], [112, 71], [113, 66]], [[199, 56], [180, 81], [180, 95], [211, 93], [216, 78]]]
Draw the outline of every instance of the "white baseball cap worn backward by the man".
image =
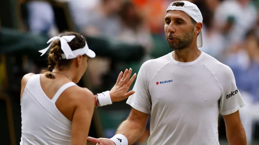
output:
[[[173, 4], [176, 3], [176, 2], [183, 3], [183, 6], [175, 6], [175, 5], [173, 6]], [[201, 15], [201, 11], [197, 7], [197, 5], [195, 5], [194, 3], [191, 3], [189, 1], [174, 1], [169, 5], [166, 12], [167, 11], [174, 11], [174, 10], [183, 11], [184, 13], [189, 15], [191, 18], [193, 18], [194, 21], [196, 21], [197, 23], [199, 23], [199, 22], [202, 23], [203, 18], [202, 18], [202, 15]], [[197, 47], [202, 47], [202, 34], [201, 34], [201, 32], [197, 36]]]

